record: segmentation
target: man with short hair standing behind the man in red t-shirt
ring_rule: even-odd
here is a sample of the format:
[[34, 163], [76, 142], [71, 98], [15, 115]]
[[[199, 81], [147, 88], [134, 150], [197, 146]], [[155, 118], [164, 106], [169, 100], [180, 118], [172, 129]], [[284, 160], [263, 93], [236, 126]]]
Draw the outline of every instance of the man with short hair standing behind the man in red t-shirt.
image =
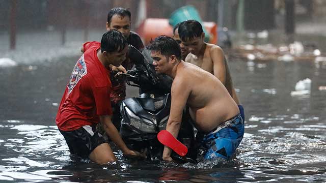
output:
[[[144, 44], [137, 33], [131, 29], [131, 13], [128, 9], [116, 7], [111, 9], [107, 14], [106, 30], [116, 29], [127, 39], [127, 43], [137, 48], [144, 49]], [[121, 64], [126, 70], [130, 70], [134, 63], [128, 57]], [[111, 66], [112, 70], [116, 70]], [[120, 68], [118, 70], [121, 70]], [[121, 115], [119, 113], [121, 101], [126, 97], [126, 83], [124, 80], [113, 79], [113, 91], [111, 93], [111, 102], [114, 110], [113, 122], [120, 129]]]

